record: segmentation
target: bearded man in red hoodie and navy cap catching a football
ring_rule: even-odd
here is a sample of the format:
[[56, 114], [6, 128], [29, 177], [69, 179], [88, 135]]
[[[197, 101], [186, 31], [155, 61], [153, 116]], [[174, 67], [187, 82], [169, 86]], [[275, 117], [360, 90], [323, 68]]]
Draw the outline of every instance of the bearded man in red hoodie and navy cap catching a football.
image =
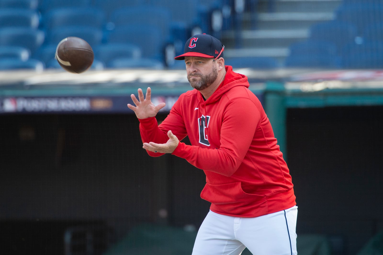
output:
[[[138, 89], [128, 104], [140, 122], [150, 156], [171, 153], [206, 174], [201, 198], [211, 202], [193, 255], [287, 255], [296, 252], [297, 206], [293, 184], [272, 127], [245, 75], [224, 65], [224, 45], [208, 34], [185, 44], [188, 81], [166, 119], [155, 116], [165, 103]], [[189, 137], [191, 145], [180, 142]]]

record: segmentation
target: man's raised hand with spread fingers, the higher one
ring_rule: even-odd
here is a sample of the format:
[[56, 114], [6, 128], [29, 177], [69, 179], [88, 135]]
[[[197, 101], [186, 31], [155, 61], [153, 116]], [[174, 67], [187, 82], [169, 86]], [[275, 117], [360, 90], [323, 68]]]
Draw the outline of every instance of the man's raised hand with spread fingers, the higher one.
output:
[[131, 94], [130, 97], [133, 100], [133, 103], [136, 106], [133, 106], [131, 104], [128, 104], [129, 109], [133, 110], [136, 114], [138, 119], [146, 119], [149, 117], [155, 117], [159, 110], [164, 108], [165, 103], [160, 103], [157, 106], [155, 106], [151, 101], [151, 88], [148, 87], [146, 89], [146, 97], [144, 98], [144, 93], [142, 92], [142, 89], [138, 89], [138, 99], [134, 94]]

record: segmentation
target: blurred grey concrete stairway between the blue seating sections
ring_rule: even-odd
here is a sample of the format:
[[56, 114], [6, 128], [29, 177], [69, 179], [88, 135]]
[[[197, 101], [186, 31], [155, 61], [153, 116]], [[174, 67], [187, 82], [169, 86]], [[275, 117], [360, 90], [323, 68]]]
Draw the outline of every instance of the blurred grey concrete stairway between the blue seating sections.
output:
[[[273, 5], [270, 5], [274, 2]], [[293, 42], [309, 36], [309, 27], [335, 18], [342, 0], [260, 0], [257, 24], [252, 29], [250, 13], [244, 13], [242, 46], [237, 47], [234, 31], [223, 32], [225, 57], [274, 57], [282, 65]]]

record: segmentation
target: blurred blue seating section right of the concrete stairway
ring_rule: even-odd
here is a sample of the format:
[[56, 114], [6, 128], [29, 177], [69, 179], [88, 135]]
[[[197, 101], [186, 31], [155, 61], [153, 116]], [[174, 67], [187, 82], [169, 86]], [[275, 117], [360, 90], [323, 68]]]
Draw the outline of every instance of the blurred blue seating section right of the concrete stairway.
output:
[[383, 68], [383, 1], [343, 0], [334, 14], [313, 24], [308, 40], [290, 45], [285, 66]]

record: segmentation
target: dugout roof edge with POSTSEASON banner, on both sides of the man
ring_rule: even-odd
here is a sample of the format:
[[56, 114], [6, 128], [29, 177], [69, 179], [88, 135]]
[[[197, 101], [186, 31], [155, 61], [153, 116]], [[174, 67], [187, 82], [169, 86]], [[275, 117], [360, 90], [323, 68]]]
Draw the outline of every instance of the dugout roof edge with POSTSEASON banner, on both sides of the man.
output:
[[[249, 78], [249, 89], [270, 109], [273, 98], [279, 109], [383, 105], [383, 70], [234, 71]], [[0, 72], [0, 114], [132, 113], [130, 95], [149, 86], [154, 104], [166, 103], [164, 112], [192, 89], [185, 70], [7, 71]]]

